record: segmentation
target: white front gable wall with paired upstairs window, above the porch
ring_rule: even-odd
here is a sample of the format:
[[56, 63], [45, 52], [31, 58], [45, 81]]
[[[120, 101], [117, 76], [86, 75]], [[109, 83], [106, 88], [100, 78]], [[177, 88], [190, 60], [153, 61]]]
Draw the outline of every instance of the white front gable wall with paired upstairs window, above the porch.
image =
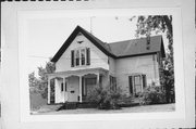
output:
[[[87, 50], [89, 50], [89, 64], [87, 64]], [[84, 55], [84, 61], [82, 61], [82, 54]], [[78, 61], [76, 61], [77, 55], [79, 55]], [[74, 61], [74, 65], [72, 64], [73, 61]], [[76, 62], [78, 64], [76, 64]], [[85, 37], [85, 35], [83, 35], [79, 31], [56, 62], [56, 72], [96, 68], [96, 67], [109, 69], [108, 55], [103, 53], [99, 48], [97, 48], [97, 46], [95, 46], [87, 37]]]

